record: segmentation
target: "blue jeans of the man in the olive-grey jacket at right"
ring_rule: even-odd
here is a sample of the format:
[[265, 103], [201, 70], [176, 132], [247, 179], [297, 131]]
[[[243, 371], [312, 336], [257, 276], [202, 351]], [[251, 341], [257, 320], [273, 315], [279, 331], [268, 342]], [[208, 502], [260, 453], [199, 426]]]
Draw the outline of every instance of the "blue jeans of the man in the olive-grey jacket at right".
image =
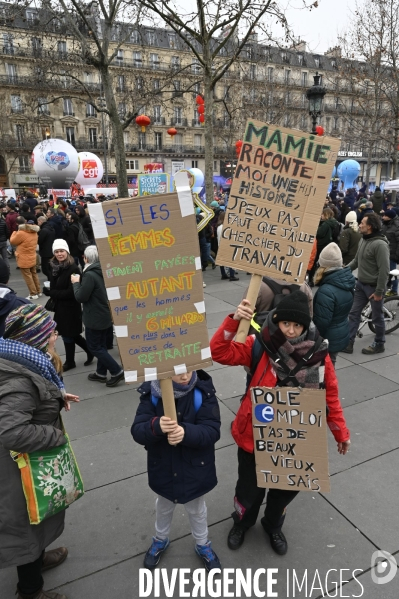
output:
[[[356, 282], [355, 297], [351, 311], [349, 312], [349, 335], [350, 340], [353, 342], [356, 337], [357, 329], [359, 328], [360, 318], [363, 308], [367, 305], [370, 295], [375, 291], [375, 287]], [[371, 315], [373, 325], [375, 326], [375, 343], [385, 343], [385, 321], [382, 307], [384, 305], [383, 300], [376, 302], [374, 299], [370, 300]]]

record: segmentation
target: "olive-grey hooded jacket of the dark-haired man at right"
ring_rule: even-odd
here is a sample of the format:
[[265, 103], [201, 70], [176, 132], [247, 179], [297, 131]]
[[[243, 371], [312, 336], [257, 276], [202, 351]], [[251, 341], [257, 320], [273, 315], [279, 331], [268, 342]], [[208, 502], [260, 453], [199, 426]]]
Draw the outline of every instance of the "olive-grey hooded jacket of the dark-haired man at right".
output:
[[361, 283], [375, 287], [377, 295], [384, 295], [389, 275], [389, 243], [385, 235], [378, 231], [363, 236], [348, 266], [352, 271], [358, 268]]

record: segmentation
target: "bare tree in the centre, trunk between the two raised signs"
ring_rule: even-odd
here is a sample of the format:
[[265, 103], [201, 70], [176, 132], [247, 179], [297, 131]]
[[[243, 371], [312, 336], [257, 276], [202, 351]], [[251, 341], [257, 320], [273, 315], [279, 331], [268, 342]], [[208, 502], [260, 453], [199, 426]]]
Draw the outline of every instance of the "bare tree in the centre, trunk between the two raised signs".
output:
[[[304, 7], [317, 7], [306, 2]], [[273, 39], [271, 21], [283, 27], [283, 38], [290, 35], [283, 3], [273, 0], [196, 0], [193, 10], [169, 0], [141, 0], [141, 6], [178, 36], [192, 54], [201, 74], [205, 100], [205, 182], [206, 194], [213, 194], [213, 120], [216, 84], [234, 76], [233, 65], [246, 52], [251, 58], [261, 51], [259, 40]], [[255, 56], [254, 56], [255, 58]]]

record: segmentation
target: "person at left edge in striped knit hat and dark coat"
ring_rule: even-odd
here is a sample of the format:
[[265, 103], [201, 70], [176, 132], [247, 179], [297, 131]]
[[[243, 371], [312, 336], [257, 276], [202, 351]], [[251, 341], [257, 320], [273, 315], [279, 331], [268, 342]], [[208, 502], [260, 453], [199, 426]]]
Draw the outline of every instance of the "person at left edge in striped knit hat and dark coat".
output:
[[76, 395], [66, 393], [47, 349], [55, 322], [36, 304], [21, 306], [6, 320], [0, 338], [0, 568], [16, 566], [17, 599], [66, 599], [43, 591], [42, 573], [65, 561], [65, 547], [46, 548], [64, 530], [65, 511], [29, 523], [21, 473], [10, 451], [45, 451], [66, 443], [60, 412]]

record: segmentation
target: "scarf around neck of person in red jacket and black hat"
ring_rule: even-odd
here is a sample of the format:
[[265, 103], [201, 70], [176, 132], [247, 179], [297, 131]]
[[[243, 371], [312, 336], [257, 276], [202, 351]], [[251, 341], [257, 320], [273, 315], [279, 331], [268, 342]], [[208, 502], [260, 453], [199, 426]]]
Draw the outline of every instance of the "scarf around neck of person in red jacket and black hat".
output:
[[[270, 356], [271, 364], [276, 372], [277, 379], [284, 381], [287, 378], [287, 372], [279, 365], [279, 361], [284, 362], [290, 370], [293, 370], [300, 359], [314, 347], [319, 332], [313, 322], [302, 335], [296, 339], [287, 339], [282, 331], [273, 321], [274, 310], [269, 312], [266, 326], [262, 329], [261, 335], [266, 345], [270, 347], [273, 353], [278, 354], [279, 360], [274, 361]], [[319, 389], [324, 382], [324, 359], [328, 354], [328, 341], [324, 339], [318, 350], [296, 373], [295, 378], [301, 387]], [[293, 383], [286, 386], [291, 387]]]

